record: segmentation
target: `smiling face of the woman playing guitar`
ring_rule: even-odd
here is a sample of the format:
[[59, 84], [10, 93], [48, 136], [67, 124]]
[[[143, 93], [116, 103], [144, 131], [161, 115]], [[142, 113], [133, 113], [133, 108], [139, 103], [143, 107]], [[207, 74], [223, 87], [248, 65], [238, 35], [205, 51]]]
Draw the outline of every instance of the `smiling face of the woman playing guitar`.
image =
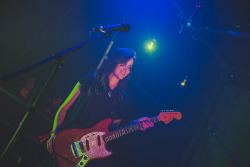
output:
[[125, 78], [130, 73], [133, 63], [134, 59], [131, 58], [125, 64], [117, 64], [113, 72], [114, 76], [119, 80]]

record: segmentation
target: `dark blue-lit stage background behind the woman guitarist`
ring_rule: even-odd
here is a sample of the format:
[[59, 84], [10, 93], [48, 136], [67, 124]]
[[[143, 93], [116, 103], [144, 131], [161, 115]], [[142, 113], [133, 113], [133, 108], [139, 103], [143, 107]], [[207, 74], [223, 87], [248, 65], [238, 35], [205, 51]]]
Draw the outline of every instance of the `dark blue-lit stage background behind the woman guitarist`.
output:
[[[39, 136], [50, 132], [59, 105], [81, 76], [95, 71], [113, 41], [111, 51], [128, 47], [137, 53], [126, 89], [133, 119], [164, 109], [183, 118], [114, 141], [104, 166], [250, 166], [249, 11], [248, 0], [2, 1], [1, 79], [84, 42], [94, 27], [131, 25], [129, 32], [113, 32], [67, 56], [25, 121], [9, 165], [20, 160], [20, 167], [45, 166], [46, 142]], [[153, 38], [156, 48], [149, 51]], [[54, 66], [51, 61], [1, 81], [1, 153]]]

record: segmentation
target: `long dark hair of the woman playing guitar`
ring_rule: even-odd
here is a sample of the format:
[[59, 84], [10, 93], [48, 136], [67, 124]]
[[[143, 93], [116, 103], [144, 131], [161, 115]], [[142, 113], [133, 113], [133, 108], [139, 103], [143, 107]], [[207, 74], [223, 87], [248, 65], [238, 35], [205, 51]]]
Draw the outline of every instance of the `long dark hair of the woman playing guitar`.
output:
[[[109, 75], [114, 71], [117, 64], [125, 64], [131, 58], [135, 60], [135, 52], [128, 48], [118, 48], [103, 62], [102, 67], [96, 72], [94, 76], [94, 84], [90, 88], [91, 94], [100, 95], [102, 93], [110, 91], [109, 88]], [[114, 101], [123, 100], [124, 92], [130, 73], [118, 82], [118, 85], [112, 92], [112, 98]]]

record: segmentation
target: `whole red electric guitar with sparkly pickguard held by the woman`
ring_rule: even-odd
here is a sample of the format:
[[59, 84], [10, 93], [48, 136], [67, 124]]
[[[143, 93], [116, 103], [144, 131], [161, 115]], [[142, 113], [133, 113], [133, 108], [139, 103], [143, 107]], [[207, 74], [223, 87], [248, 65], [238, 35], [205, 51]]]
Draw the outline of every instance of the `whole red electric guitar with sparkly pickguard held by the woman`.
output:
[[[161, 112], [150, 118], [153, 123], [163, 121], [165, 124], [174, 118], [179, 120], [180, 112]], [[54, 139], [54, 156], [59, 167], [84, 167], [89, 160], [106, 158], [112, 155], [106, 149], [106, 143], [129, 133], [140, 130], [142, 122], [123, 127], [113, 132], [108, 131], [111, 119], [100, 121], [89, 129], [66, 129], [60, 131]]]

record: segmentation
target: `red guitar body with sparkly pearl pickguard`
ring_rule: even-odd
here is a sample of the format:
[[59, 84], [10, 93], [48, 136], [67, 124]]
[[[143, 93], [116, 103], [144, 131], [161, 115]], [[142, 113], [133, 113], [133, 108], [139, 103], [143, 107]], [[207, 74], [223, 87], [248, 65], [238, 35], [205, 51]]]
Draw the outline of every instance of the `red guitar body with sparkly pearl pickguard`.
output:
[[[59, 167], [83, 167], [91, 159], [112, 155], [107, 151], [103, 135], [108, 133], [111, 119], [105, 119], [89, 129], [66, 129], [54, 140], [53, 149]], [[73, 143], [73, 144], [72, 144]]]

